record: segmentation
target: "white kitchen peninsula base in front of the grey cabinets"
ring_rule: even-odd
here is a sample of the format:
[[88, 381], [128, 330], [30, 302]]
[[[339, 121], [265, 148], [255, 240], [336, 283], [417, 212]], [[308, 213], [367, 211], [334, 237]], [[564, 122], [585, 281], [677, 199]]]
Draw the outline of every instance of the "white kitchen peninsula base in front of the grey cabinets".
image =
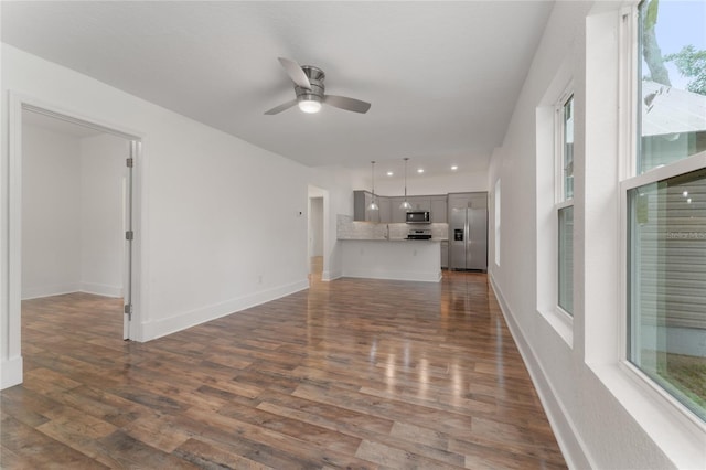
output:
[[343, 276], [373, 279], [441, 280], [439, 239], [340, 239]]

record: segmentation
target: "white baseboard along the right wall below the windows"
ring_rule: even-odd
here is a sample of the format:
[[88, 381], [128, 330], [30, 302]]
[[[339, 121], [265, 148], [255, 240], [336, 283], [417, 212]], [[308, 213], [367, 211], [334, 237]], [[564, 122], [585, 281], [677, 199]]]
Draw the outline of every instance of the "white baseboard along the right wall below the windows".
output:
[[526, 341], [525, 335], [522, 332], [522, 328], [515, 321], [515, 317], [507, 306], [502, 290], [496, 285], [495, 279], [491, 274], [489, 274], [489, 278], [490, 285], [495, 293], [495, 298], [498, 299], [498, 303], [500, 305], [500, 309], [503, 312], [505, 323], [507, 323], [510, 333], [512, 334], [512, 338], [517, 345], [517, 350], [520, 350], [520, 354], [527, 367], [527, 372], [532, 377], [532, 383], [537, 391], [537, 395], [542, 402], [542, 407], [547, 415], [547, 419], [549, 420], [549, 425], [552, 426], [552, 430], [554, 431], [567, 466], [569, 469], [596, 468], [592, 464], [589, 457], [590, 453], [587, 452], [586, 445], [578, 434], [574, 421], [552, 386], [552, 383], [544, 372], [544, 368], [537, 360], [532, 346]]

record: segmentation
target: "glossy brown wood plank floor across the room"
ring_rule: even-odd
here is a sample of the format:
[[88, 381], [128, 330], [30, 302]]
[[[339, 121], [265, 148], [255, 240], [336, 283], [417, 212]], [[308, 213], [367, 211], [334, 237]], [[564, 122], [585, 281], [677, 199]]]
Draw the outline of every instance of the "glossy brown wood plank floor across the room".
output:
[[3, 469], [566, 468], [484, 274], [321, 282], [148, 343], [23, 302]]

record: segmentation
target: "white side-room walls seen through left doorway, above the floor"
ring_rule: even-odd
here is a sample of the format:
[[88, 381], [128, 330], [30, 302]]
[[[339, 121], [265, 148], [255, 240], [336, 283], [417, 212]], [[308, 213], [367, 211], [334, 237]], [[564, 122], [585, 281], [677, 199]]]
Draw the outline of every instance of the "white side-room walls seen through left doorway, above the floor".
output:
[[75, 292], [120, 299], [129, 339], [131, 147], [105, 129], [22, 109], [22, 308], [57, 296], [65, 305]]

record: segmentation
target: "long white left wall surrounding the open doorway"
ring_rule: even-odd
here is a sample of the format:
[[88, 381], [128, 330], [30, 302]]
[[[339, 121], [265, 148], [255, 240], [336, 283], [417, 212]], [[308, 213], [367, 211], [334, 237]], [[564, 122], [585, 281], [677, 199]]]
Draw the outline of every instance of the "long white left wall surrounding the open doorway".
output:
[[[10, 90], [19, 100], [142, 138], [136, 162], [132, 339], [147, 341], [308, 286], [311, 170], [3, 44], [2, 96]], [[3, 141], [15, 129], [9, 118], [3, 106]], [[2, 266], [10, 263], [10, 249], [17, 249], [7, 236], [13, 231], [10, 158], [3, 147]], [[339, 197], [338, 192], [332, 196], [335, 210]], [[2, 278], [3, 299], [13, 291], [12, 282]], [[8, 299], [1, 306], [3, 386], [21, 374], [19, 309], [10, 307], [15, 303]]]

